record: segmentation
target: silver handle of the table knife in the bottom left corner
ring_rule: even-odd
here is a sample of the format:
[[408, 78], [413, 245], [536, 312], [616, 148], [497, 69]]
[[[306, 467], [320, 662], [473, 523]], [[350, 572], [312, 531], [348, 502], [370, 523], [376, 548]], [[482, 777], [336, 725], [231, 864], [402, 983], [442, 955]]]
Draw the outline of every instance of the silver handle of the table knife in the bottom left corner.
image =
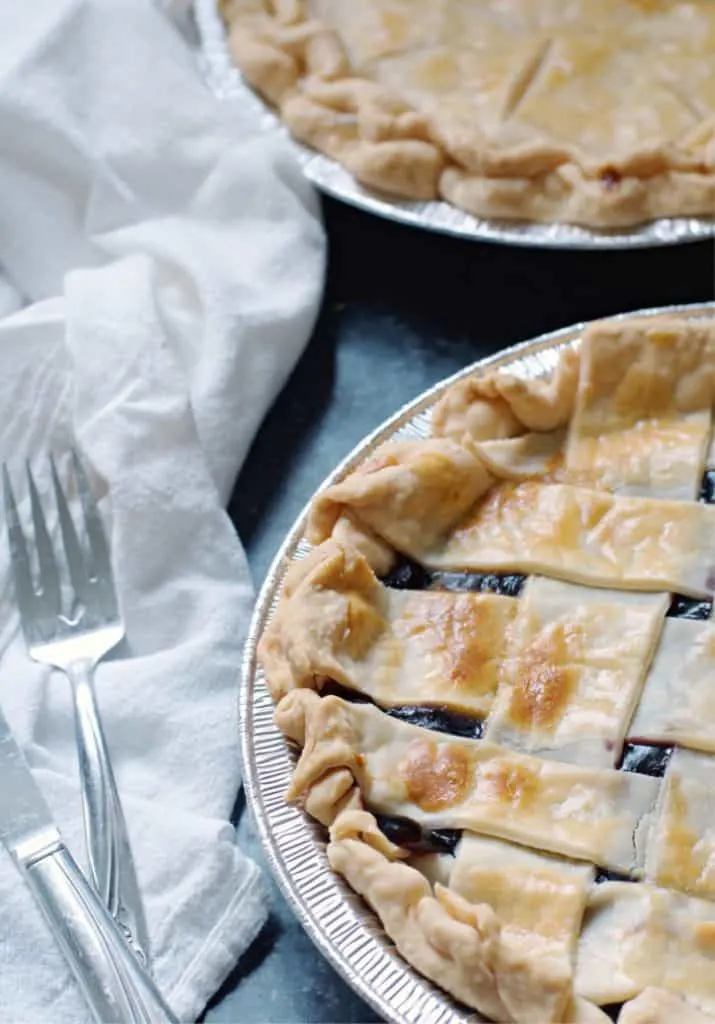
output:
[[64, 844], [30, 862], [16, 859], [16, 863], [96, 1021], [176, 1022]]

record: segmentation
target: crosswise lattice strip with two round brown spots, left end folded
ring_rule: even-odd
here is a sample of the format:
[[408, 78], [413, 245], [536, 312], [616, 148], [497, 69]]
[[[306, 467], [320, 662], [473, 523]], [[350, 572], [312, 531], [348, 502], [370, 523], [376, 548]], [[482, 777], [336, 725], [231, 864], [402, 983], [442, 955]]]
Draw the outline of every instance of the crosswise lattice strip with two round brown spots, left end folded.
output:
[[480, 831], [623, 873], [642, 868], [659, 779], [452, 739], [309, 690], [284, 697], [276, 720], [303, 746], [289, 800], [304, 797], [327, 772], [348, 768], [379, 813]]

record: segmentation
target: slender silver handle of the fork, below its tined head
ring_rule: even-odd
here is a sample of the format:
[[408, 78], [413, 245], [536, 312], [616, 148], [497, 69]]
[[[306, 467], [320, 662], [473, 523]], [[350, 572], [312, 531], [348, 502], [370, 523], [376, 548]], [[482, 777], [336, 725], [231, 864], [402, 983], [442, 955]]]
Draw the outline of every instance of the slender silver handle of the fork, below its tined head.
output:
[[136, 956], [149, 966], [149, 939], [127, 826], [101, 727], [91, 660], [70, 666], [90, 879]]

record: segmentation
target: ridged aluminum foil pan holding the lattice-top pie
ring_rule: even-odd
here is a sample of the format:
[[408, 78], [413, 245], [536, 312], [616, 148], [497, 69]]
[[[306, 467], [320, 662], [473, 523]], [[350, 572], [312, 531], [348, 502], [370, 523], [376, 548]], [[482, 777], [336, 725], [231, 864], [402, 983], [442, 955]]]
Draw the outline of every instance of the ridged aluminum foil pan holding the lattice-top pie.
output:
[[[664, 306], [609, 319], [676, 314], [715, 316], [715, 302]], [[270, 621], [285, 573], [310, 545], [307, 512], [321, 490], [355, 469], [386, 440], [425, 437], [431, 408], [445, 389], [475, 372], [508, 369], [527, 379], [553, 370], [561, 349], [577, 346], [587, 324], [541, 335], [465, 367], [420, 394], [358, 444], [323, 482], [296, 519], [268, 569], [246, 641], [240, 694], [240, 738], [244, 785], [259, 839], [272, 873], [303, 928], [348, 984], [382, 1018], [394, 1024], [466, 1024], [483, 1021], [410, 967], [384, 935], [377, 918], [335, 874], [325, 853], [326, 833], [296, 807], [286, 804], [296, 752], [274, 724], [275, 705], [257, 665], [258, 640]]]

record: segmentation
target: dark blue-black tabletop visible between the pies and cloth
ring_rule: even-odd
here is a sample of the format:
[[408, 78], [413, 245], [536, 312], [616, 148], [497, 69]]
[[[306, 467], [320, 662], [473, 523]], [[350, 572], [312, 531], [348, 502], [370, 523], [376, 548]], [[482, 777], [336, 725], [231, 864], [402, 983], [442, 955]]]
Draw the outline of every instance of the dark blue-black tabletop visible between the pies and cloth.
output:
[[[326, 203], [330, 264], [314, 335], [268, 414], [229, 511], [260, 585], [285, 534], [335, 464], [394, 410], [461, 367], [545, 331], [715, 297], [710, 243], [550, 253], [430, 236]], [[244, 849], [260, 850], [246, 813]], [[206, 1019], [375, 1021], [280, 893], [263, 934]]]

